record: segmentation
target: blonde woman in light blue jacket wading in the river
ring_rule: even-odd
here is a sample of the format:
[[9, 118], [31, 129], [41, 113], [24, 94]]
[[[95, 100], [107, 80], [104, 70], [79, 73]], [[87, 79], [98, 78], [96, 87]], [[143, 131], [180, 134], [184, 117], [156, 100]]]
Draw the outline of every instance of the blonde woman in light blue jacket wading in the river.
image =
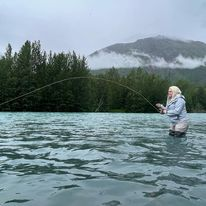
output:
[[188, 130], [188, 117], [186, 111], [185, 97], [181, 94], [181, 90], [176, 86], [169, 87], [167, 95], [167, 104], [164, 107], [157, 103], [161, 114], [166, 114], [171, 122], [169, 135], [171, 136], [185, 136]]

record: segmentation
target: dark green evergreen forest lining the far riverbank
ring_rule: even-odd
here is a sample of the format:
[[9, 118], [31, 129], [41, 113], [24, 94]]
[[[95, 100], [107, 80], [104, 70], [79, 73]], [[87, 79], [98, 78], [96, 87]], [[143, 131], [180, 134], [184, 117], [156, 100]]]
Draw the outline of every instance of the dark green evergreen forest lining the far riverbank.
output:
[[[6, 101], [41, 88], [47, 84], [70, 79], [30, 95]], [[95, 79], [99, 78], [99, 79]], [[206, 111], [206, 87], [185, 80], [170, 82], [141, 68], [120, 76], [111, 68], [105, 74], [92, 75], [85, 57], [72, 53], [49, 54], [41, 50], [39, 41], [26, 41], [19, 52], [9, 44], [0, 57], [0, 111], [52, 112], [157, 112], [144, 98], [125, 85], [144, 95], [153, 105], [165, 103], [168, 87], [177, 85], [187, 100], [189, 112]]]

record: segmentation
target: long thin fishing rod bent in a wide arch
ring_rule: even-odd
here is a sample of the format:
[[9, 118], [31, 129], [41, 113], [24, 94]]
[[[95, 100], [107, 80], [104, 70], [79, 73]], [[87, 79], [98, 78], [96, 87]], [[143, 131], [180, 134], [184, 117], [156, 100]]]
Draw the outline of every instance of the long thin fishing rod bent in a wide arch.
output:
[[159, 112], [159, 110], [158, 110], [143, 94], [141, 94], [140, 92], [132, 89], [131, 87], [129, 87], [129, 86], [127, 86], [127, 85], [121, 84], [121, 83], [119, 83], [119, 82], [112, 81], [112, 80], [110, 80], [110, 79], [104, 79], [104, 78], [101, 78], [101, 77], [83, 77], [83, 76], [80, 76], [80, 77], [69, 77], [69, 78], [66, 78], [66, 79], [62, 79], [62, 80], [59, 80], [59, 81], [56, 81], [56, 82], [47, 84], [47, 85], [45, 85], [45, 86], [39, 87], [39, 88], [34, 89], [34, 90], [32, 90], [32, 91], [30, 91], [30, 92], [27, 92], [27, 93], [25, 93], [25, 94], [22, 94], [22, 95], [20, 95], [20, 96], [17, 96], [17, 97], [15, 97], [15, 98], [13, 98], [13, 99], [10, 99], [10, 100], [8, 100], [8, 101], [2, 102], [2, 103], [0, 103], [0, 106], [2, 106], [2, 105], [4, 105], [4, 104], [7, 104], [7, 103], [10, 103], [10, 102], [13, 102], [13, 101], [15, 101], [15, 100], [17, 100], [17, 99], [23, 98], [23, 97], [25, 97], [25, 96], [28, 96], [28, 95], [30, 95], [30, 94], [33, 94], [33, 93], [35, 93], [35, 92], [37, 92], [37, 91], [40, 91], [40, 90], [45, 89], [45, 88], [47, 88], [47, 87], [50, 87], [50, 86], [52, 86], [52, 85], [59, 84], [59, 83], [61, 83], [61, 82], [65, 82], [65, 81], [69, 81], [69, 80], [76, 80], [76, 79], [94, 79], [94, 80], [101, 80], [101, 81], [109, 82], [109, 83], [112, 83], [112, 84], [116, 84], [116, 85], [118, 85], [118, 86], [121, 86], [121, 87], [123, 87], [123, 88], [126, 88], [126, 89], [134, 92], [135, 94], [141, 96], [148, 104], [150, 104], [156, 111]]

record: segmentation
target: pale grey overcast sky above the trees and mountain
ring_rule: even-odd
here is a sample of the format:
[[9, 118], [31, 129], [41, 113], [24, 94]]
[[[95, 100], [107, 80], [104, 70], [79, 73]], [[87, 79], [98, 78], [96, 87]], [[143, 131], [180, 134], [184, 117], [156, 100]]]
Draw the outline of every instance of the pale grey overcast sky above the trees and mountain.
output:
[[40, 40], [87, 56], [156, 35], [206, 42], [206, 0], [0, 0], [0, 53]]

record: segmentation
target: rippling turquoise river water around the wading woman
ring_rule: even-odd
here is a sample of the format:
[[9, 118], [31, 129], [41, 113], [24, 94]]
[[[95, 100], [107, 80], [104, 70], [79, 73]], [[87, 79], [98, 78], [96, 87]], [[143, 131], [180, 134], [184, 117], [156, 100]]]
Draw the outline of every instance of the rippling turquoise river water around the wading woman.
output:
[[0, 205], [205, 206], [206, 114], [0, 113]]

